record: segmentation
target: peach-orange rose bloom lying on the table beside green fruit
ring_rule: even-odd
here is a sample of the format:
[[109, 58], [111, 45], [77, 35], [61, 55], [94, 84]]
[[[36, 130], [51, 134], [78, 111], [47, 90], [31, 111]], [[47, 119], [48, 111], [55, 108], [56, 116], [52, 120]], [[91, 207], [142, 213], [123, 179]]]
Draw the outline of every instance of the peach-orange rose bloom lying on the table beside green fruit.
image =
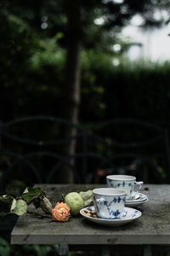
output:
[[70, 207], [63, 202], [57, 202], [52, 210], [52, 216], [54, 220], [68, 221], [70, 217]]

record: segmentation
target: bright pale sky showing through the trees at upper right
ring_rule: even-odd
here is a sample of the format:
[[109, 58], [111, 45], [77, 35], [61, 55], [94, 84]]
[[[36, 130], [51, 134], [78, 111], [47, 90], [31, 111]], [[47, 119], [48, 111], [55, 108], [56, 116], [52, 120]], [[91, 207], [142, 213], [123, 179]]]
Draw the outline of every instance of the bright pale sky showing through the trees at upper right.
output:
[[[118, 1], [117, 3], [122, 3], [123, 0], [103, 0], [105, 2]], [[154, 17], [156, 20], [160, 20], [161, 17], [164, 20], [169, 18], [168, 13], [165, 10], [157, 9]], [[155, 28], [152, 31], [142, 31], [139, 28], [144, 22], [140, 15], [134, 15], [130, 21], [130, 25], [122, 29], [122, 36], [124, 41], [126, 38], [133, 43], [142, 44], [142, 47], [133, 46], [127, 51], [127, 56], [130, 60], [138, 60], [139, 58], [144, 58], [144, 60], [150, 61], [170, 61], [170, 24], [163, 26], [161, 28]], [[105, 23], [105, 17], [99, 17], [94, 20], [97, 26], [103, 25]], [[114, 44], [113, 50], [119, 52], [121, 50], [120, 44]], [[119, 65], [118, 59], [114, 58], [113, 65]]]

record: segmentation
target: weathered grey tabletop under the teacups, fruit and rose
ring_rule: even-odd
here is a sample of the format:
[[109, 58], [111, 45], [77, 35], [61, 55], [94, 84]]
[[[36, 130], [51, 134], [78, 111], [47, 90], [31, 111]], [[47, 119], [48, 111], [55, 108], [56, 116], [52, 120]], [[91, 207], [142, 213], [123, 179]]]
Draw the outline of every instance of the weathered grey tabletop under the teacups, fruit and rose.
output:
[[[53, 202], [61, 194], [85, 191], [104, 185], [41, 185]], [[69, 222], [54, 222], [26, 213], [20, 217], [11, 234], [13, 244], [157, 244], [170, 245], [170, 185], [144, 185], [149, 197], [139, 210], [142, 216], [122, 227], [101, 226], [80, 217]]]

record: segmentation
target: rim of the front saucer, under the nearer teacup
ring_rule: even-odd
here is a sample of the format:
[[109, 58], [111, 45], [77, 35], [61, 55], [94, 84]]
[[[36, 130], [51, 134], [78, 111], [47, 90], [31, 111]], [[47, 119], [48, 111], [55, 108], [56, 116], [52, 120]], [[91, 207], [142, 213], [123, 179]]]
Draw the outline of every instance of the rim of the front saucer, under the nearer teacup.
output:
[[[94, 206], [92, 206], [92, 207], [94, 207]], [[96, 222], [105, 222], [105, 223], [108, 223], [108, 222], [111, 222], [111, 223], [126, 222], [128, 220], [131, 221], [131, 220], [134, 220], [136, 218], [139, 218], [142, 215], [142, 212], [140, 212], [139, 210], [137, 210], [137, 209], [135, 209], [133, 207], [125, 207], [125, 210], [127, 210], [127, 211], [132, 211], [132, 210], [137, 211], [138, 212], [138, 216], [136, 216], [134, 218], [131, 218], [131, 217], [127, 217], [126, 218], [125, 217], [125, 218], [121, 218], [121, 219], [120, 218], [116, 218], [116, 219], [114, 219], [114, 218], [112, 218], [112, 219], [111, 218], [94, 218], [94, 217], [90, 217], [90, 216], [82, 214], [82, 211], [87, 209], [87, 208], [89, 208], [89, 207], [82, 208], [80, 210], [80, 214], [82, 215], [82, 217], [88, 218], [88, 219], [91, 219], [91, 220], [96, 220]]]

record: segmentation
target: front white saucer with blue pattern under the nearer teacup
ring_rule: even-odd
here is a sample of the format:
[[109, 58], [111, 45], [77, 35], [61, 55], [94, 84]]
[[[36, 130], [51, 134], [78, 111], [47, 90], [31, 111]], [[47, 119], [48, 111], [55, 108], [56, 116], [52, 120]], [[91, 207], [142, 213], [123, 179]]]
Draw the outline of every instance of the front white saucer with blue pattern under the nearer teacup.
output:
[[108, 226], [122, 226], [123, 224], [127, 224], [131, 221], [133, 221], [136, 218], [139, 218], [142, 213], [139, 212], [139, 210], [125, 207], [125, 211], [127, 212], [125, 215], [122, 215], [122, 218], [117, 218], [117, 219], [109, 219], [109, 218], [94, 218], [94, 217], [89, 217], [84, 214], [84, 210], [86, 209], [91, 209], [94, 211], [94, 207], [85, 207], [83, 208], [80, 213], [84, 218], [88, 218], [88, 220], [93, 221], [97, 224], [102, 224], [102, 225], [108, 225]]

